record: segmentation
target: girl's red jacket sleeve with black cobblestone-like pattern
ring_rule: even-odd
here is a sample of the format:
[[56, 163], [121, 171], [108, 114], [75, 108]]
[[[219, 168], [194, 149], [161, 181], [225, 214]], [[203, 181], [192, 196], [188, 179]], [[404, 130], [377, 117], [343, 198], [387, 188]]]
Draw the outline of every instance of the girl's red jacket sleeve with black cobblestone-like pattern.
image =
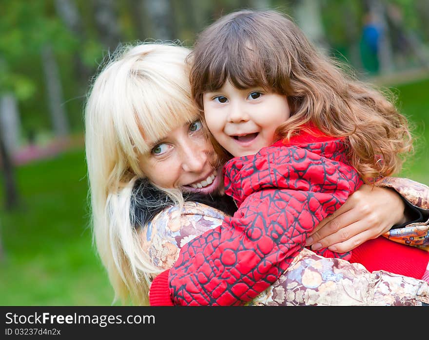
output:
[[[264, 176], [275, 177], [275, 184], [282, 187], [280, 181], [298, 176], [293, 168], [298, 162], [305, 168], [299, 183], [292, 183], [293, 187], [299, 185], [298, 190], [270, 188], [262, 181], [264, 190], [249, 190], [234, 217], [227, 217], [219, 227], [181, 249], [167, 280], [174, 304], [238, 305], [254, 299], [288, 268], [315, 225], [356, 190], [356, 179], [345, 175], [350, 169], [334, 171], [336, 165], [331, 164], [333, 171], [321, 175], [325, 160], [308, 160], [305, 150], [293, 150], [290, 156], [292, 163], [281, 162], [283, 179], [271, 170]], [[310, 161], [312, 166], [301, 161]], [[313, 182], [317, 184], [313, 186]], [[325, 255], [348, 258], [350, 254]]]

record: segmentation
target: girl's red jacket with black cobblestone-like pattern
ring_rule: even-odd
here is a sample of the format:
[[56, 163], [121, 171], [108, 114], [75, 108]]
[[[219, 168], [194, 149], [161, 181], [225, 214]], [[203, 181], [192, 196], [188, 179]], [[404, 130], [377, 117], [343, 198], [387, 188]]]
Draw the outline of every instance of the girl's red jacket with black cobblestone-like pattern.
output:
[[[304, 144], [303, 144], [304, 143]], [[150, 289], [151, 305], [239, 305], [254, 299], [303, 249], [308, 233], [363, 183], [344, 143], [302, 134], [224, 167], [238, 210], [195, 237]], [[318, 251], [350, 259], [348, 253]]]

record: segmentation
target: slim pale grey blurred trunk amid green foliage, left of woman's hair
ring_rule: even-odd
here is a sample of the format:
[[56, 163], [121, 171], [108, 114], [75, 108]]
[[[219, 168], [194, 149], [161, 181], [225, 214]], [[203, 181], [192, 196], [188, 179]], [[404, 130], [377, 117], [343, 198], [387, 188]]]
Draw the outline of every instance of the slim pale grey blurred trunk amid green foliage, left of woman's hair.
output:
[[69, 125], [65, 109], [62, 105], [62, 87], [59, 78], [57, 60], [50, 45], [42, 47], [42, 65], [45, 74], [47, 99], [54, 125], [55, 134], [65, 137], [69, 134]]

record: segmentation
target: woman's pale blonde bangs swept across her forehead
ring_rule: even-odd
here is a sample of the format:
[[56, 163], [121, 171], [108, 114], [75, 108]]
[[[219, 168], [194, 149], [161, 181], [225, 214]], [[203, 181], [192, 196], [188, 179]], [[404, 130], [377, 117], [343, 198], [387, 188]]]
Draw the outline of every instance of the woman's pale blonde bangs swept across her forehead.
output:
[[113, 117], [117, 142], [135, 172], [140, 154], [198, 116], [185, 67], [189, 52], [179, 46], [139, 46], [125, 54], [106, 91], [113, 94], [106, 98], [107, 116]]

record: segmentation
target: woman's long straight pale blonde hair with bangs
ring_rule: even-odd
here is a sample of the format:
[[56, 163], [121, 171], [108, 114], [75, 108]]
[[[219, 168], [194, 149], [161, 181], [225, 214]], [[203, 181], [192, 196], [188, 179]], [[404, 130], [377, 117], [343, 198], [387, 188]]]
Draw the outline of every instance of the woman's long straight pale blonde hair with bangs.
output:
[[[133, 186], [144, 178], [139, 156], [151, 143], [198, 115], [185, 58], [176, 43], [124, 45], [108, 56], [85, 107], [85, 147], [94, 242], [115, 290], [114, 302], [148, 304], [150, 274], [159, 273], [132, 225]], [[165, 190], [183, 204], [180, 190]]]

